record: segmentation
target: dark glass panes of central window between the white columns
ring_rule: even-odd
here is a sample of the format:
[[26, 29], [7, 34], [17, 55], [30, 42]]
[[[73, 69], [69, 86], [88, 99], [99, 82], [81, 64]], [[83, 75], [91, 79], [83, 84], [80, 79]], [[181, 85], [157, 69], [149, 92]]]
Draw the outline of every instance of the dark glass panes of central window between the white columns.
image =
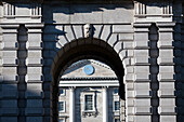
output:
[[86, 95], [86, 110], [93, 110], [93, 95]]

